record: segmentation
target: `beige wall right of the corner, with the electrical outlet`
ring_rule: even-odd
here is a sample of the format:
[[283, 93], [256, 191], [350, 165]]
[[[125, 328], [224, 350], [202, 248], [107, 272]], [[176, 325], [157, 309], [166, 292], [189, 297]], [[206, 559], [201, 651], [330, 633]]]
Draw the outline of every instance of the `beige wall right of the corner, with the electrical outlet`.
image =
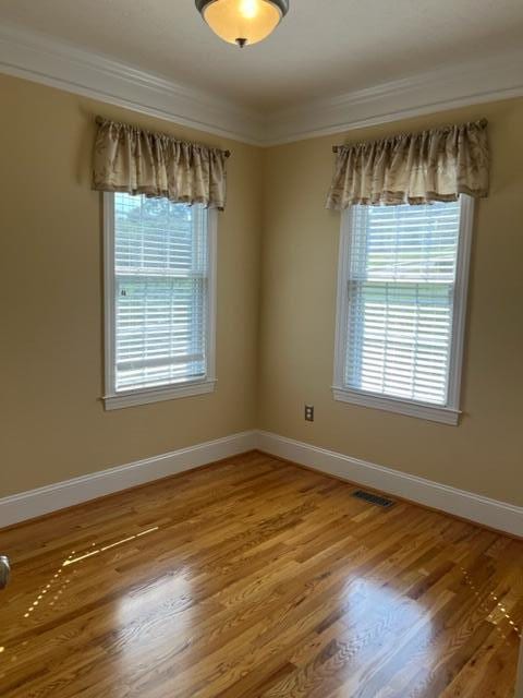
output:
[[[460, 426], [332, 398], [340, 216], [333, 143], [487, 117], [491, 193], [476, 209]], [[523, 504], [523, 100], [275, 147], [265, 156], [259, 426]], [[303, 419], [304, 402], [316, 421]]]

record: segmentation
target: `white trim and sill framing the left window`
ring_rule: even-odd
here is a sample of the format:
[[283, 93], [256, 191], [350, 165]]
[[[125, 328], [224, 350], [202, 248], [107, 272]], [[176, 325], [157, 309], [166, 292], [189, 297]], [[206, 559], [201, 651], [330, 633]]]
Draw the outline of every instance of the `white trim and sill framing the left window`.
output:
[[114, 324], [114, 194], [104, 192], [104, 342], [105, 342], [105, 395], [106, 410], [115, 410], [137, 405], [149, 405], [162, 400], [212, 393], [216, 386], [216, 269], [218, 212], [208, 209], [208, 314], [207, 374], [196, 381], [181, 381], [154, 388], [136, 388], [118, 392], [114, 388], [115, 324]]

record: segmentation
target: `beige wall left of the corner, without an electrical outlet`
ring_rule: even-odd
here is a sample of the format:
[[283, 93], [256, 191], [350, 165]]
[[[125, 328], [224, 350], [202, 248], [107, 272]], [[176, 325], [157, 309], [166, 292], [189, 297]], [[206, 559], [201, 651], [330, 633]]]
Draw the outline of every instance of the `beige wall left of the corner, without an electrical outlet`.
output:
[[[105, 412], [94, 116], [229, 147], [219, 215], [218, 386]], [[0, 496], [255, 426], [257, 148], [0, 75]]]

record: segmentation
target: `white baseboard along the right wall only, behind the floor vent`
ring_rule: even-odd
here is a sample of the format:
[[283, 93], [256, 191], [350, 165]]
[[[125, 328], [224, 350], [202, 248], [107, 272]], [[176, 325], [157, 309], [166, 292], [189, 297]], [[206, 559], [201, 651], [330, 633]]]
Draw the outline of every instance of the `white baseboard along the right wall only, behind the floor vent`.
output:
[[523, 537], [523, 507], [457, 490], [431, 480], [376, 466], [332, 450], [259, 431], [257, 447], [342, 480], [380, 490], [460, 516], [489, 528]]

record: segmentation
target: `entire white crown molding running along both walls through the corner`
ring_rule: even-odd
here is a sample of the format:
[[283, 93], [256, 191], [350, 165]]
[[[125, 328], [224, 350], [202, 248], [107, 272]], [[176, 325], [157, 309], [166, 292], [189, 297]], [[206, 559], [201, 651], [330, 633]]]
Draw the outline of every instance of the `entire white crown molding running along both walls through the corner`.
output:
[[266, 116], [14, 25], [0, 27], [0, 72], [264, 147], [523, 96], [520, 49]]

